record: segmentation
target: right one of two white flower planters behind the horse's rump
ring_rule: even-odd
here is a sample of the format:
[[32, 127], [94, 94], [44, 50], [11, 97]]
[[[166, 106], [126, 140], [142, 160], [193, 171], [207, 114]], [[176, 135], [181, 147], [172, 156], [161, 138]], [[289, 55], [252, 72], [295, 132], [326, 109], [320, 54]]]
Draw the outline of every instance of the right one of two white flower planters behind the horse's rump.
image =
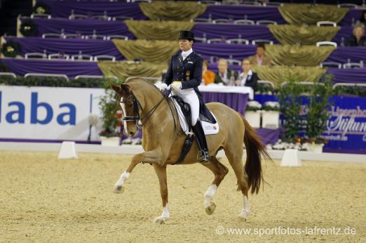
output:
[[280, 124], [280, 103], [267, 101], [262, 107], [262, 128], [278, 129]]

